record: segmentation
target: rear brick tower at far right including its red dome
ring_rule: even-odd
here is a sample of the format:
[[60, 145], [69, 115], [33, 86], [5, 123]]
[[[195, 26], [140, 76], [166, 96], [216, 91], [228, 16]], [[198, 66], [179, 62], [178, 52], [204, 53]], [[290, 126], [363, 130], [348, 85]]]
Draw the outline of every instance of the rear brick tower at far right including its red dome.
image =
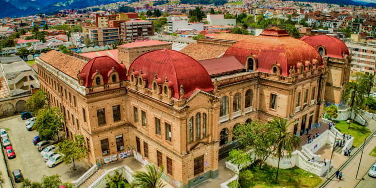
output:
[[327, 35], [304, 36], [300, 40], [315, 48], [326, 66], [325, 102], [340, 105], [344, 85], [350, 77], [351, 57], [346, 45]]

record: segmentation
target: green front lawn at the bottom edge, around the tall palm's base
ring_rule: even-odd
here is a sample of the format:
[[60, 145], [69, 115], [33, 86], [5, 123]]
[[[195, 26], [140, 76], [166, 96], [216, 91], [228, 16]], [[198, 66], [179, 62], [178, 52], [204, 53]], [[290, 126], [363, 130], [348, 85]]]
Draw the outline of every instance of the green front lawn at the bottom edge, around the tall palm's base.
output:
[[[252, 172], [252, 175], [248, 175], [247, 180], [243, 180], [246, 171]], [[259, 169], [258, 166], [249, 167], [247, 170], [242, 170], [239, 175], [240, 187], [254, 187], [254, 188], [267, 188], [267, 187], [317, 187], [321, 184], [322, 179], [307, 171], [304, 171], [298, 167], [289, 169], [279, 169], [278, 182], [275, 182], [275, 176], [277, 168], [264, 166], [263, 169]]]

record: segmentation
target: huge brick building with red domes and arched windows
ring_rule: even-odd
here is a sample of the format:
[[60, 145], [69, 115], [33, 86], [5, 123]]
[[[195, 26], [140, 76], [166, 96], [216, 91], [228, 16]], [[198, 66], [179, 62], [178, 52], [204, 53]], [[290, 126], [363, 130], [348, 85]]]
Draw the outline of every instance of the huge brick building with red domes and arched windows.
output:
[[240, 124], [282, 117], [298, 136], [319, 126], [325, 94], [334, 93], [328, 74], [348, 75], [345, 68], [328, 73], [328, 65], [350, 57], [338, 39], [308, 39], [265, 29], [239, 42], [206, 39], [228, 49], [201, 61], [155, 41], [120, 46], [118, 62], [53, 50], [36, 62], [41, 88], [66, 117], [67, 137], [85, 137], [87, 162], [133, 150], [142, 164], [163, 165], [169, 184], [185, 188], [218, 177], [219, 159], [238, 146], [233, 130]]

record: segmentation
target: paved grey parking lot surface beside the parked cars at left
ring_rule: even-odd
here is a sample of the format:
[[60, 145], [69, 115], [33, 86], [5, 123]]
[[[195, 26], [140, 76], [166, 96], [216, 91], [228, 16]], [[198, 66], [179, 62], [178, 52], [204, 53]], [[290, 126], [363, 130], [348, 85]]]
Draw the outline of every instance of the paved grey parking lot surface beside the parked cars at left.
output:
[[[76, 162], [77, 170], [71, 169], [73, 164], [64, 163], [60, 163], [53, 168], [47, 167], [40, 152], [32, 142], [38, 132], [26, 130], [25, 121], [19, 115], [0, 119], [0, 128], [7, 130], [16, 153], [14, 159], [6, 157], [11, 176], [13, 170], [21, 169], [24, 178], [32, 181], [41, 181], [43, 175], [59, 174], [63, 182], [71, 182], [85, 173], [88, 167], [81, 162]], [[21, 183], [17, 183], [16, 186], [20, 187]]]

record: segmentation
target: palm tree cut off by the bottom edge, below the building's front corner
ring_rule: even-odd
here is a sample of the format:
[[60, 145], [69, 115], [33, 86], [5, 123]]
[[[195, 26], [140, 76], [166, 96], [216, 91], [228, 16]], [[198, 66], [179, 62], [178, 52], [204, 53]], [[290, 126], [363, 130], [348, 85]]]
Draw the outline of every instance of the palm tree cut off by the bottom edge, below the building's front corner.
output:
[[139, 188], [162, 188], [165, 186], [161, 181], [163, 166], [156, 168], [152, 164], [146, 166], [147, 172], [137, 171], [133, 174], [133, 187]]

